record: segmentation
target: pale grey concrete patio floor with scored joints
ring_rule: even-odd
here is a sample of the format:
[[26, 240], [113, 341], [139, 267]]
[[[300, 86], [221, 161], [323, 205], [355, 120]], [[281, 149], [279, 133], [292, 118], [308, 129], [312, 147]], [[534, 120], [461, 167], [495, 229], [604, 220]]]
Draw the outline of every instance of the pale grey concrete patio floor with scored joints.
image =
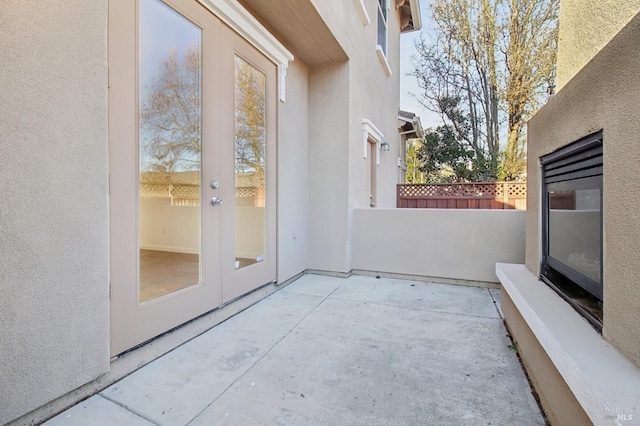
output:
[[45, 424], [544, 425], [499, 295], [305, 275]]

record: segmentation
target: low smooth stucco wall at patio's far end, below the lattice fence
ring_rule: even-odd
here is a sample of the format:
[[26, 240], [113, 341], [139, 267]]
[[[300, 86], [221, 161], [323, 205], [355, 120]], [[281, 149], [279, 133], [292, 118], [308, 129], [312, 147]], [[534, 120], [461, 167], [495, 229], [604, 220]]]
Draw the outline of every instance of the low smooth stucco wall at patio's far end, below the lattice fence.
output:
[[496, 262], [524, 261], [525, 212], [356, 209], [354, 269], [498, 282]]

